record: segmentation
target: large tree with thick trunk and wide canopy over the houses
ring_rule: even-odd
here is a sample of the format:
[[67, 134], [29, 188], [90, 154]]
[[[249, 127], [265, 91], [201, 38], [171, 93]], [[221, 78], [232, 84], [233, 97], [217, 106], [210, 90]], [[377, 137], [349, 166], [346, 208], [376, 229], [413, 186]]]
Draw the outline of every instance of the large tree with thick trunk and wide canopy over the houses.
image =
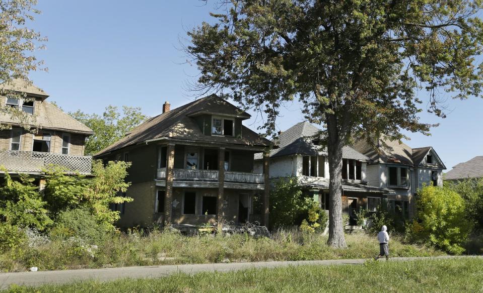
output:
[[420, 92], [441, 117], [441, 92], [458, 99], [481, 92], [480, 0], [232, 0], [219, 7], [213, 22], [188, 32], [196, 89], [263, 111], [267, 134], [293, 99], [324, 126], [334, 247], [346, 247], [342, 147], [362, 135], [429, 134], [418, 116]]

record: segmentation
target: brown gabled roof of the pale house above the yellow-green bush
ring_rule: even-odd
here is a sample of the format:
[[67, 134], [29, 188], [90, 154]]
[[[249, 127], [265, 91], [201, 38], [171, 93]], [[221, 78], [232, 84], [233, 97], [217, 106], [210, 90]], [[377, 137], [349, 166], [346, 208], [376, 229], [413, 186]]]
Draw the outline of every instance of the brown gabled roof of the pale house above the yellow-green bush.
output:
[[[434, 151], [433, 147], [411, 148], [407, 144], [398, 141], [391, 141], [388, 139], [379, 139], [376, 142], [379, 149], [377, 152], [374, 147], [367, 141], [366, 138], [359, 139], [354, 144], [354, 149], [365, 154], [373, 161], [379, 163], [399, 163], [410, 166], [420, 166], [426, 155], [432, 151], [441, 165], [441, 168], [446, 169], [443, 161]], [[435, 167], [430, 165], [429, 167]]]

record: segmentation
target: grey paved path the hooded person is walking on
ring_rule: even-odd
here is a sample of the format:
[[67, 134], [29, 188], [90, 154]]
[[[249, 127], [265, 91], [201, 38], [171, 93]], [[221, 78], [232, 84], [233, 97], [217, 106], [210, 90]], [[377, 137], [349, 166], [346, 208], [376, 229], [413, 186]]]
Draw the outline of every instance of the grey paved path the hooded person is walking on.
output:
[[[416, 259], [454, 258], [458, 256], [439, 257], [393, 257], [390, 261], [408, 261]], [[460, 256], [468, 257], [468, 256]], [[471, 257], [471, 256], [469, 256]], [[478, 256], [481, 257], [481, 256]], [[209, 264], [183, 264], [160, 266], [133, 266], [100, 269], [75, 269], [57, 271], [37, 271], [0, 273], [0, 289], [8, 289], [10, 284], [37, 286], [45, 283], [66, 283], [76, 280], [97, 279], [109, 281], [118, 278], [148, 278], [164, 277], [176, 272], [194, 274], [203, 271], [232, 271], [249, 268], [273, 268], [297, 265], [341, 265], [363, 264], [366, 259], [337, 259], [337, 260], [310, 260], [310, 261], [269, 261], [269, 262], [241, 262], [241, 263], [209, 263]], [[385, 261], [380, 259], [379, 261]]]

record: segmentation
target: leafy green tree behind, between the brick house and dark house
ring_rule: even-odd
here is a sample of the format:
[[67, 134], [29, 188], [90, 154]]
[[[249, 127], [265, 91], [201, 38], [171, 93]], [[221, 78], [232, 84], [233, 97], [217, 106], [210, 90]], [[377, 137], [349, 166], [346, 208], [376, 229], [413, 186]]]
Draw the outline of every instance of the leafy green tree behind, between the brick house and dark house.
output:
[[106, 107], [102, 116], [86, 114], [81, 110], [68, 114], [94, 131], [94, 135], [86, 139], [86, 155], [98, 153], [149, 119], [148, 116], [141, 113], [139, 107], [123, 106], [121, 114], [117, 107], [112, 105]]

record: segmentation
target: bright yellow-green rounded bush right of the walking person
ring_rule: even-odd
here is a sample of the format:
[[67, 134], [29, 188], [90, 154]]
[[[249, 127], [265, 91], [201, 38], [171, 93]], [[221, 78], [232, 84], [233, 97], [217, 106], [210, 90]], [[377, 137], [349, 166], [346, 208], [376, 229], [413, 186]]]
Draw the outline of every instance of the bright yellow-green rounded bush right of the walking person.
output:
[[410, 236], [454, 254], [464, 251], [472, 223], [465, 218], [461, 196], [447, 188], [424, 186], [417, 200], [417, 219], [410, 225]]

